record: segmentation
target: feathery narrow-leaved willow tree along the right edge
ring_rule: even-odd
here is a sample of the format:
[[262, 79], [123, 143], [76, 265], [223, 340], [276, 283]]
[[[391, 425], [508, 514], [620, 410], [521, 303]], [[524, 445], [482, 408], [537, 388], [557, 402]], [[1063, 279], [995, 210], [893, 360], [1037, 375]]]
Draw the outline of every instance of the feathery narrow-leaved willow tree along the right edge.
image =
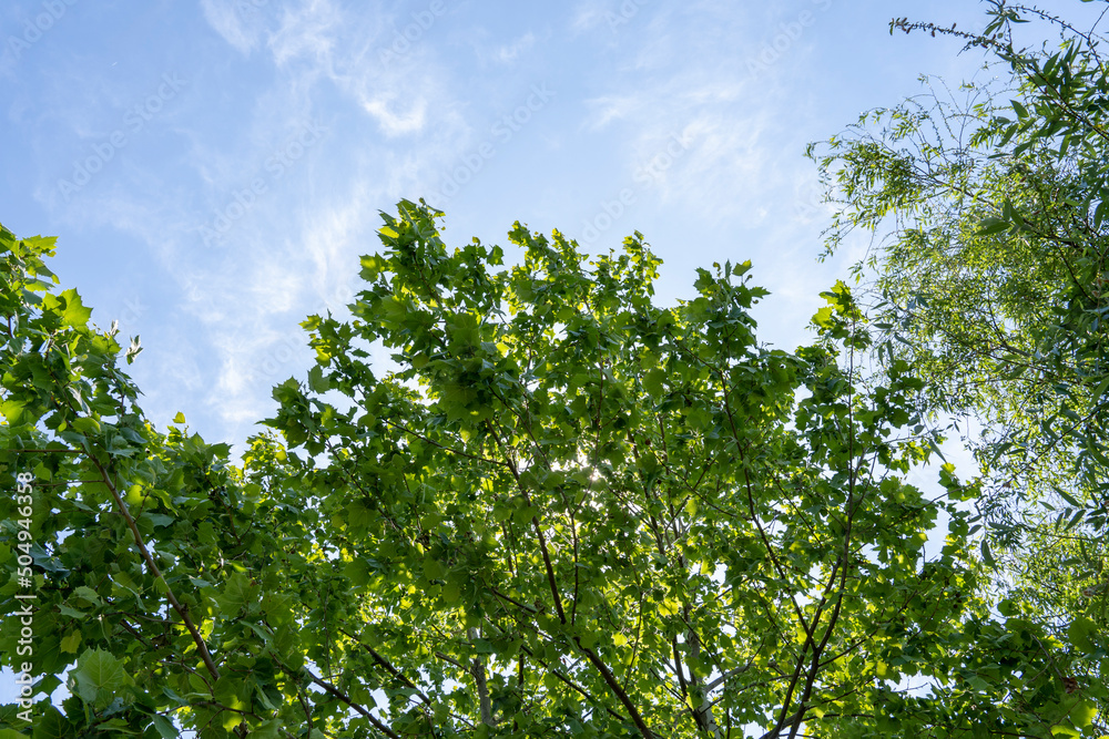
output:
[[[980, 429], [966, 439], [997, 597], [1079, 655], [1071, 685], [1092, 688], [1109, 669], [1109, 80], [1093, 30], [990, 6], [980, 34], [907, 19], [891, 32], [962, 38], [1000, 82], [875, 111], [812, 153], [838, 207], [830, 250], [856, 227], [883, 235], [859, 266], [879, 357], [912, 362], [933, 409]], [[1032, 21], [1061, 43], [1020, 48]]]

